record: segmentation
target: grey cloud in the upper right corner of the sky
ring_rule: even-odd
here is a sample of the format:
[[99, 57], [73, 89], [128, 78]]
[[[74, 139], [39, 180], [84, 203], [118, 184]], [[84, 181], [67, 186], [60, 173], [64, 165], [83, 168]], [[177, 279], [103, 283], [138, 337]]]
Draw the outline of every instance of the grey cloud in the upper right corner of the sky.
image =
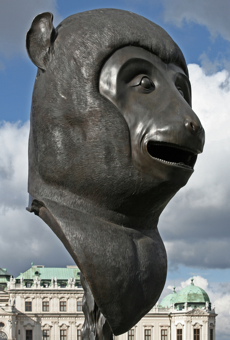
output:
[[181, 27], [183, 21], [195, 22], [208, 28], [213, 37], [218, 33], [230, 41], [230, 2], [223, 0], [162, 0], [164, 18]]

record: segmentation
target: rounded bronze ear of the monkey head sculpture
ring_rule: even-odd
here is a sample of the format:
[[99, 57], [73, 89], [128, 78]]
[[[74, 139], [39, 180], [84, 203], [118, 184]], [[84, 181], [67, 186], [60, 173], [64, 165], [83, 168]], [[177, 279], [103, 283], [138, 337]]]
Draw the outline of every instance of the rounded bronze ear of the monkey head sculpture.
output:
[[53, 14], [38, 14], [25, 37], [26, 51], [31, 61], [42, 71], [46, 71], [54, 54], [56, 31], [53, 26]]

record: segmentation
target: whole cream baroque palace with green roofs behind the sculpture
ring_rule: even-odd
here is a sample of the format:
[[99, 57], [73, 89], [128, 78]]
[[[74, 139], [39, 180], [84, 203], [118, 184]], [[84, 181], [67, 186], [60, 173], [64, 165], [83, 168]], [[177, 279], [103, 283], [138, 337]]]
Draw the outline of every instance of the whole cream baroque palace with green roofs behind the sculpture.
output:
[[[81, 340], [83, 289], [77, 266], [34, 266], [13, 278], [0, 268], [0, 339]], [[193, 284], [165, 296], [114, 340], [215, 340], [215, 308]]]

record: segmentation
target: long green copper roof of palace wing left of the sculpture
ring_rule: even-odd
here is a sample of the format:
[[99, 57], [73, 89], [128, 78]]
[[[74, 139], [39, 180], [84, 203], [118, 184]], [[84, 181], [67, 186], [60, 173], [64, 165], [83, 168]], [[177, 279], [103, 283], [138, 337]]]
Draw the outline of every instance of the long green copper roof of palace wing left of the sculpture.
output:
[[45, 268], [44, 266], [33, 266], [32, 268], [17, 276], [16, 279], [20, 279], [20, 277], [23, 276], [24, 280], [32, 280], [38, 276], [41, 278], [41, 280], [51, 280], [51, 277], [54, 278], [56, 276], [58, 280], [67, 280], [72, 276], [73, 278], [79, 280], [80, 270], [77, 268], [77, 266], [67, 267], [70, 268]]

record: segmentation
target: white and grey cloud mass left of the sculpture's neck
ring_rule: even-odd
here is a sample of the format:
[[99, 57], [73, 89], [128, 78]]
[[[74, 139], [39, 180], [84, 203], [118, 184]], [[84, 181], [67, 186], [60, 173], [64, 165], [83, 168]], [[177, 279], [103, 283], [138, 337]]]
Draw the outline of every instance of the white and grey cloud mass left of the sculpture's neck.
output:
[[29, 122], [0, 125], [0, 267], [14, 276], [35, 264], [65, 267], [73, 260], [51, 229], [25, 210], [28, 203]]

